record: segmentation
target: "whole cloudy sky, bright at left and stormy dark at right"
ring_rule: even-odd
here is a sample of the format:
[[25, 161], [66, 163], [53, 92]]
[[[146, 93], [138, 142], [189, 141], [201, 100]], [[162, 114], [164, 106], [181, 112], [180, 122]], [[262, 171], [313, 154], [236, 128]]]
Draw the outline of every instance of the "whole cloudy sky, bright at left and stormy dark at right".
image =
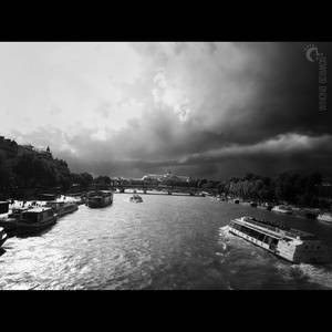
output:
[[2, 42], [0, 133], [94, 175], [328, 174], [307, 44]]

